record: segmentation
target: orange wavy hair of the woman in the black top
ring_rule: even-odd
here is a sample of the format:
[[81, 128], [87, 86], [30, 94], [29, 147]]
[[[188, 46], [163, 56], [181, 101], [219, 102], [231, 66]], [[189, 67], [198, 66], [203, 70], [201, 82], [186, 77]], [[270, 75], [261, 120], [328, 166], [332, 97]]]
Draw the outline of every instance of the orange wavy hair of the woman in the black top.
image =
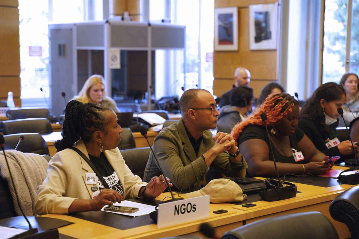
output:
[[234, 140], [238, 140], [239, 135], [242, 133], [243, 129], [249, 125], [264, 125], [264, 122], [261, 119], [261, 114], [266, 113], [267, 115], [267, 125], [275, 125], [279, 123], [281, 119], [287, 116], [293, 110], [293, 106], [298, 105], [293, 96], [280, 93], [275, 95], [269, 95], [266, 100], [260, 106], [255, 109], [253, 114], [251, 114], [247, 119], [243, 120], [241, 123], [237, 123], [232, 129], [232, 137]]

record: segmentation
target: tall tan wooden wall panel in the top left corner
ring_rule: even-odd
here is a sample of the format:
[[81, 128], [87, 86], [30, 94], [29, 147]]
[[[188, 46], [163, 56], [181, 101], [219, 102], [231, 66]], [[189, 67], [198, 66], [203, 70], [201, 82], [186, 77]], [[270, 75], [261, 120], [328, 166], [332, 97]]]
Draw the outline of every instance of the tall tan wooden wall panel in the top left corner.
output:
[[20, 75], [19, 10], [0, 7], [0, 75]]

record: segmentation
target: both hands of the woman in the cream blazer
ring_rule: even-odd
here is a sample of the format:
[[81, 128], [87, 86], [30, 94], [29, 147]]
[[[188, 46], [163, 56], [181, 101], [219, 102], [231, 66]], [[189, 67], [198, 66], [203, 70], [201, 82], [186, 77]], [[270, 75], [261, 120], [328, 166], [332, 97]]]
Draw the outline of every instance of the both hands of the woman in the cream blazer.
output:
[[[166, 177], [167, 178], [167, 177]], [[172, 186], [172, 183], [169, 182], [169, 186]], [[153, 177], [146, 185], [145, 195], [148, 198], [159, 196], [167, 187], [167, 183], [164, 181], [163, 175], [160, 177]], [[142, 190], [139, 190], [139, 197], [141, 197]], [[90, 207], [92, 211], [101, 210], [103, 206], [112, 206], [114, 202], [121, 203], [125, 198], [118, 193], [116, 190], [104, 188], [101, 192], [92, 200], [90, 200]]]

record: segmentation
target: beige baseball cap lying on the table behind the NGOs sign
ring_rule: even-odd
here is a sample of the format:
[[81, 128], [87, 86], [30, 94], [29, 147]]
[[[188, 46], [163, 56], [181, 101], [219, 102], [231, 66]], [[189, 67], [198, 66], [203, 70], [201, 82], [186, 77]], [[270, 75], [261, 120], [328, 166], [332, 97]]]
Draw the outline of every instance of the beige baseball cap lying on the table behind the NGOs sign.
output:
[[200, 197], [204, 195], [209, 195], [209, 201], [213, 203], [242, 202], [247, 199], [247, 195], [243, 194], [242, 188], [228, 178], [211, 180], [200, 190], [186, 193], [187, 198]]

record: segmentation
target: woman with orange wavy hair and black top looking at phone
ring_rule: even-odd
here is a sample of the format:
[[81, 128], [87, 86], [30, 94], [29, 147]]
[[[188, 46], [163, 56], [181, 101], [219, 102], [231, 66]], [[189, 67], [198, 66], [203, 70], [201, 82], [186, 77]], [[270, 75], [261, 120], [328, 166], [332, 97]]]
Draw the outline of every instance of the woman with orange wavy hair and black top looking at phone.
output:
[[[313, 175], [325, 173], [332, 165], [323, 161], [328, 159], [311, 140], [297, 128], [299, 106], [292, 96], [286, 93], [269, 95], [263, 104], [246, 120], [234, 126], [233, 138], [248, 163], [250, 176], [276, 176], [261, 114], [267, 115], [270, 140], [279, 175], [293, 173]], [[294, 159], [294, 153], [301, 152], [303, 157]]]

